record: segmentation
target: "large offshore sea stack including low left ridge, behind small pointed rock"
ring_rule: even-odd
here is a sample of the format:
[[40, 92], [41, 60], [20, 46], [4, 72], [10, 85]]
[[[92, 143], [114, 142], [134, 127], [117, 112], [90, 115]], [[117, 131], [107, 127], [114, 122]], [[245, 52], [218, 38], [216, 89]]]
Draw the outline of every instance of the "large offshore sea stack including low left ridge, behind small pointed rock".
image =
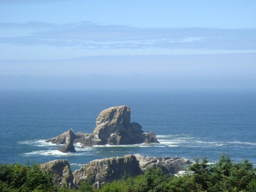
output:
[[[144, 133], [140, 124], [130, 123], [130, 114], [128, 106], [116, 106], [102, 111], [93, 133], [74, 134], [74, 143], [80, 142], [82, 146], [159, 143], [153, 132]], [[64, 132], [46, 142], [66, 144], [67, 135]]]

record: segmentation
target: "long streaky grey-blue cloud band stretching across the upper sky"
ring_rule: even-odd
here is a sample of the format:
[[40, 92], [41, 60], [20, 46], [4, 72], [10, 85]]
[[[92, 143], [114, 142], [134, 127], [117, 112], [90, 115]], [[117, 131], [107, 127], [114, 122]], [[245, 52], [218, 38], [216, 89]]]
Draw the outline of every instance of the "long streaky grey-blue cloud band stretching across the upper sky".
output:
[[0, 43], [76, 49], [256, 50], [256, 29], [135, 28], [91, 22], [1, 23], [0, 29], [32, 29], [28, 36], [0, 38]]

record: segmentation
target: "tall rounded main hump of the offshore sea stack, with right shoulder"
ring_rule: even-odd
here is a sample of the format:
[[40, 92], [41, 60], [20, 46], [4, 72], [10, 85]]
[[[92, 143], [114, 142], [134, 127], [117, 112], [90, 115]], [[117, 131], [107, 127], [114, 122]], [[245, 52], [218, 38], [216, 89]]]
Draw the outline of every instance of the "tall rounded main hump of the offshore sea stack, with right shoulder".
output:
[[139, 144], [158, 142], [153, 132], [144, 133], [140, 124], [130, 123], [131, 111], [128, 106], [116, 106], [102, 111], [97, 120], [94, 135], [102, 144]]

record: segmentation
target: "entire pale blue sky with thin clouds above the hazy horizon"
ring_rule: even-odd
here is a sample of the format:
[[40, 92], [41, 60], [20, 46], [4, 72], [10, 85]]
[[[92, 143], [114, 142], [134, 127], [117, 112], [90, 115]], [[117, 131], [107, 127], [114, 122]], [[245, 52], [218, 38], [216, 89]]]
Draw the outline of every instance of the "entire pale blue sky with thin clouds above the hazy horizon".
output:
[[0, 89], [256, 90], [254, 0], [0, 0]]

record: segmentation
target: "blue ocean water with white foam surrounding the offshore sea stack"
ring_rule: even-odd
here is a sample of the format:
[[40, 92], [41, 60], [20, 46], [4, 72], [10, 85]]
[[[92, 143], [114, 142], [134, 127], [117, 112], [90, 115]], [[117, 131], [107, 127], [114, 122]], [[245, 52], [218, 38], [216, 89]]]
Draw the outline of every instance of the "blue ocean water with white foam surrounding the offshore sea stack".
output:
[[[70, 128], [91, 133], [98, 114], [127, 105], [131, 122], [153, 131], [160, 144], [91, 146], [64, 154], [44, 140]], [[94, 159], [140, 153], [235, 161], [256, 165], [256, 92], [250, 91], [113, 91], [1, 90], [0, 160], [44, 163], [67, 159], [72, 170]]]

